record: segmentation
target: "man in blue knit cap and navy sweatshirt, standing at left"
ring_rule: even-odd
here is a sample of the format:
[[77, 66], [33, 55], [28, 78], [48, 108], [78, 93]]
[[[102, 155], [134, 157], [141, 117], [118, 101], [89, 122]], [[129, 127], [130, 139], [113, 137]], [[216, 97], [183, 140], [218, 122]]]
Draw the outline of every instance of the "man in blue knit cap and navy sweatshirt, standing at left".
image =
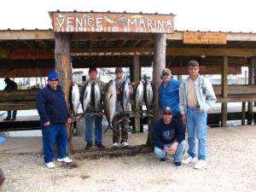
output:
[[49, 73], [48, 84], [38, 92], [37, 108], [43, 133], [45, 165], [49, 169], [55, 168], [55, 142], [59, 148], [57, 160], [71, 163], [73, 160], [67, 157], [66, 127], [66, 123], [71, 123], [71, 117], [55, 71]]

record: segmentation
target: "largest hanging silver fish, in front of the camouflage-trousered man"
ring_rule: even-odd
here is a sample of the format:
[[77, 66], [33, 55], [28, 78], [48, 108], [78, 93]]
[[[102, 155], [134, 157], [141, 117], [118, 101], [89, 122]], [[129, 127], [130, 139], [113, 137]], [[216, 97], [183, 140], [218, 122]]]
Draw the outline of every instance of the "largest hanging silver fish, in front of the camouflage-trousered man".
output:
[[116, 105], [116, 89], [115, 89], [115, 81], [110, 80], [108, 82], [107, 88], [105, 90], [104, 96], [104, 112], [106, 114], [106, 118], [108, 120], [108, 128], [104, 133], [108, 131], [108, 129], [113, 129], [113, 117], [115, 114], [115, 105]]

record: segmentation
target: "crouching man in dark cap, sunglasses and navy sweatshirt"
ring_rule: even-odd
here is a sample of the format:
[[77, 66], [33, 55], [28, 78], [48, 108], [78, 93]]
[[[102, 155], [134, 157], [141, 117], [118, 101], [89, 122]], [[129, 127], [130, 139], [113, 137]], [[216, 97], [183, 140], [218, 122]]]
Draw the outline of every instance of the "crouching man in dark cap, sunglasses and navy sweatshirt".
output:
[[167, 154], [174, 154], [174, 164], [181, 166], [185, 150], [185, 129], [180, 120], [173, 118], [172, 108], [166, 106], [164, 116], [154, 125], [154, 154], [166, 161]]

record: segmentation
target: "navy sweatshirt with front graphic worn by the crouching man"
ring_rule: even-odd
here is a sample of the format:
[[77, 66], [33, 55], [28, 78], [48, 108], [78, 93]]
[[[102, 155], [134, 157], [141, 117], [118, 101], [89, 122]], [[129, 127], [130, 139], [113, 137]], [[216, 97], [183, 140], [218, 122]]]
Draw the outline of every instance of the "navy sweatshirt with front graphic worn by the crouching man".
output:
[[176, 118], [172, 118], [169, 125], [160, 119], [154, 124], [153, 139], [156, 147], [165, 148], [165, 144], [174, 141], [181, 143], [185, 139], [185, 129], [180, 120]]

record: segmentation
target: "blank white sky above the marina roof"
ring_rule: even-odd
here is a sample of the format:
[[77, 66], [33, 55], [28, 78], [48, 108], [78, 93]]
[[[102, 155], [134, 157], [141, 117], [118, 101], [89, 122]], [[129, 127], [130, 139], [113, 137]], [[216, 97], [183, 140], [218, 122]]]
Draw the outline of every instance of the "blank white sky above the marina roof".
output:
[[256, 32], [255, 0], [7, 0], [0, 7], [0, 30], [52, 28], [48, 11], [171, 14], [178, 31]]

